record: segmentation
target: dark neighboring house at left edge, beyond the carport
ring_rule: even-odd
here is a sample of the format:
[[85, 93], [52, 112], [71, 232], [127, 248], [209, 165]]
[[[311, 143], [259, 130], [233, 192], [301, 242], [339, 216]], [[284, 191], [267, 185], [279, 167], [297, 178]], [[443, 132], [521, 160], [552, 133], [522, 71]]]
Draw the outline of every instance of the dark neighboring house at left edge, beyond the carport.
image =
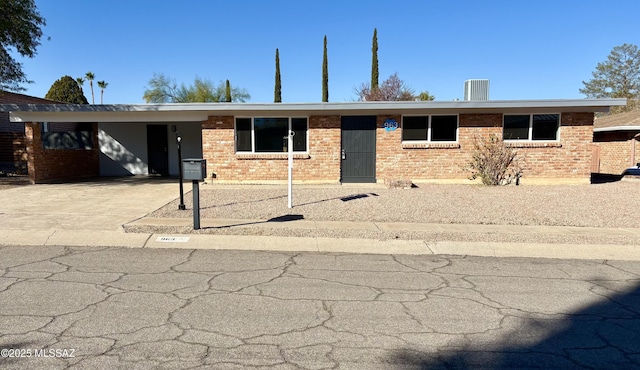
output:
[[[0, 105], [54, 103], [57, 102], [0, 90]], [[2, 110], [0, 110], [0, 171], [17, 174], [27, 173], [27, 144], [24, 124], [10, 122], [9, 112]]]

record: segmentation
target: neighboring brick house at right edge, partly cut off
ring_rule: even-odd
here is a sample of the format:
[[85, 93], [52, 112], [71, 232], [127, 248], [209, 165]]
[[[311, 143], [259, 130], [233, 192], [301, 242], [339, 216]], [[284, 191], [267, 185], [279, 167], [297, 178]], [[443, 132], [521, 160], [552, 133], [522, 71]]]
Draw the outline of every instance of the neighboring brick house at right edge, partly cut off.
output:
[[640, 110], [598, 117], [593, 129], [594, 173], [621, 175], [640, 163]]

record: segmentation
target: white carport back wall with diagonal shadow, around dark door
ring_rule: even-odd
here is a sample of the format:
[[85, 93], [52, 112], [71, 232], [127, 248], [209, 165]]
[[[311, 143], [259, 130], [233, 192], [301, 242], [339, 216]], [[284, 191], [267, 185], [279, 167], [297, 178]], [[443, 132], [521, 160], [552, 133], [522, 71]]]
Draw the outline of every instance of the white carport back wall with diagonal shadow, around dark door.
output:
[[98, 124], [100, 176], [148, 175], [147, 125], [166, 124], [169, 174], [178, 176], [178, 147], [172, 125], [182, 135], [182, 157], [202, 158], [200, 122], [102, 122]]

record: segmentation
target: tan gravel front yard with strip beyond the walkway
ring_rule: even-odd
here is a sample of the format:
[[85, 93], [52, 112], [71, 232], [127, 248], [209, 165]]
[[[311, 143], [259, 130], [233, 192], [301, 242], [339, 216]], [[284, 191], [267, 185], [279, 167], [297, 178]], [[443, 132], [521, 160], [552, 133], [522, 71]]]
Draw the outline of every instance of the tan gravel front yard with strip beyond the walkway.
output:
[[[301, 215], [305, 220], [417, 222], [439, 224], [547, 225], [636, 228], [640, 225], [640, 182], [598, 185], [484, 187], [480, 185], [420, 185], [412, 189], [380, 186], [294, 186], [292, 209], [286, 186], [203, 186], [203, 219], [268, 220]], [[152, 218], [193, 217], [192, 194], [147, 215]], [[631, 234], [529, 233], [467, 231], [382, 231], [273, 227], [269, 222], [233, 227], [125, 225], [127, 232], [275, 235], [330, 238], [406, 239], [458, 242], [625, 244], [638, 245]]]

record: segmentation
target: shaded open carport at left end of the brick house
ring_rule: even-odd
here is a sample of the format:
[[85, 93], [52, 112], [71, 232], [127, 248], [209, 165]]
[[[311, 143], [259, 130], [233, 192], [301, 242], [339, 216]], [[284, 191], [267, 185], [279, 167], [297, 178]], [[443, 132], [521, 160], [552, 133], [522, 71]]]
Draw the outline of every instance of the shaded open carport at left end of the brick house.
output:
[[202, 157], [201, 123], [208, 116], [193, 109], [196, 105], [185, 106], [2, 108], [10, 112], [11, 122], [25, 125], [29, 180], [35, 184], [96, 176], [177, 176], [177, 138], [183, 157]]

